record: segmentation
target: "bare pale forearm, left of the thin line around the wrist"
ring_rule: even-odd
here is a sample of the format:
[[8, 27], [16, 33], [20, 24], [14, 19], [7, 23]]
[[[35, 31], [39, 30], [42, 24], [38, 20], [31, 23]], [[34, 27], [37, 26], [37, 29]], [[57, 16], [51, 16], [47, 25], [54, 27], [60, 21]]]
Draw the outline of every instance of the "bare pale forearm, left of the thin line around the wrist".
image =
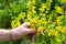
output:
[[10, 30], [0, 30], [0, 42], [10, 41]]

